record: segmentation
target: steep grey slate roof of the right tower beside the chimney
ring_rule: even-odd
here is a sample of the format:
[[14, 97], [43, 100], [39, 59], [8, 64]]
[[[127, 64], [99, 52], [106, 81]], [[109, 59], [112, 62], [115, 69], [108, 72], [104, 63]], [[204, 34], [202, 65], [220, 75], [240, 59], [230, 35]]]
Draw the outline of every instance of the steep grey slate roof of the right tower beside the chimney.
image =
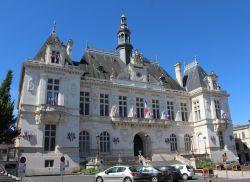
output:
[[193, 61], [185, 67], [183, 87], [185, 87], [187, 91], [192, 91], [199, 87], [207, 88], [207, 76], [203, 68], [196, 61]]

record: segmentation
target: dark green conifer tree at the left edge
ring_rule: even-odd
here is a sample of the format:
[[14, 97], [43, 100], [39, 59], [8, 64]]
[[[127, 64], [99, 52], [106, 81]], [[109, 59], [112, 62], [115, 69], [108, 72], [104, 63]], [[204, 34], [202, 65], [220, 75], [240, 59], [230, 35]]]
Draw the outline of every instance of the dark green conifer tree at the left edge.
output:
[[16, 117], [13, 115], [14, 101], [11, 101], [10, 86], [13, 78], [11, 70], [8, 71], [5, 80], [0, 85], [0, 143], [12, 143], [20, 134], [16, 129]]

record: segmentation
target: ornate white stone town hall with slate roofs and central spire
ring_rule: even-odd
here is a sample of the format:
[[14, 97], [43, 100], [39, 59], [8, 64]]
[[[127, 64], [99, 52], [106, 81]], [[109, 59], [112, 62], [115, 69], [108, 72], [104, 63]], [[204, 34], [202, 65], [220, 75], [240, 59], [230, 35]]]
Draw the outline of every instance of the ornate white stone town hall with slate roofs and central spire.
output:
[[[133, 48], [123, 14], [115, 52], [87, 47], [72, 60], [73, 40], [55, 28], [33, 59], [23, 63], [15, 146], [27, 174], [68, 171], [89, 157], [167, 161], [176, 156], [235, 160], [229, 94], [196, 60], [174, 65], [171, 77]], [[171, 68], [172, 69], [172, 68]]]

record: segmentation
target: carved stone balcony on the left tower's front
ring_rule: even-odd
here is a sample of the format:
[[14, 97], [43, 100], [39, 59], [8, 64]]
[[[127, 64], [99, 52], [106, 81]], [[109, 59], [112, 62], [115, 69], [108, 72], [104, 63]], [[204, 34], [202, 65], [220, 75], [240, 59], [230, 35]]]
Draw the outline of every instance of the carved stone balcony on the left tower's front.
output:
[[65, 118], [65, 107], [58, 105], [42, 104], [36, 107], [36, 124], [43, 122], [59, 123]]

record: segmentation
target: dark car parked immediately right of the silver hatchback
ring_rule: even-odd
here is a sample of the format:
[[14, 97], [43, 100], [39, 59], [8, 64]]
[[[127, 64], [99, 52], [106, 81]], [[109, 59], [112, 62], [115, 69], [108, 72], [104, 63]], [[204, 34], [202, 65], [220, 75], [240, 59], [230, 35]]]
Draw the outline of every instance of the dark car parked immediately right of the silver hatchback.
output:
[[136, 176], [134, 177], [134, 181], [140, 182], [164, 182], [167, 176], [166, 171], [160, 171], [154, 167], [144, 166], [137, 169]]

